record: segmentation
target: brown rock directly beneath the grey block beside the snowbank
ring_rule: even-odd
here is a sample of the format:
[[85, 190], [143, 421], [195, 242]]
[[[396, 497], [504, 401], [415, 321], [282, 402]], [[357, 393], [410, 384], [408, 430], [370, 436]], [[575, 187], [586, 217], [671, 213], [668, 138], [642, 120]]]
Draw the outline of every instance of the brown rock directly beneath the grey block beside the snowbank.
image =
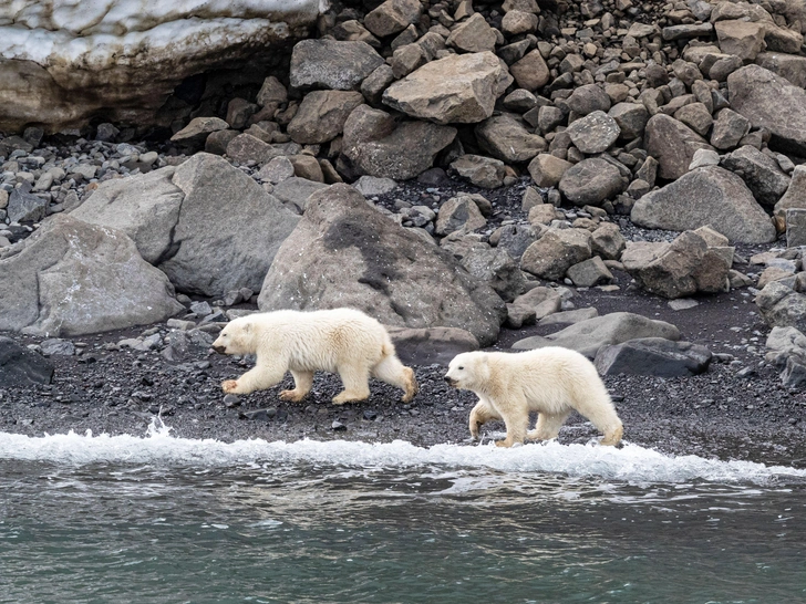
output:
[[300, 103], [288, 135], [300, 145], [319, 145], [341, 134], [352, 111], [364, 102], [360, 92], [313, 91]]

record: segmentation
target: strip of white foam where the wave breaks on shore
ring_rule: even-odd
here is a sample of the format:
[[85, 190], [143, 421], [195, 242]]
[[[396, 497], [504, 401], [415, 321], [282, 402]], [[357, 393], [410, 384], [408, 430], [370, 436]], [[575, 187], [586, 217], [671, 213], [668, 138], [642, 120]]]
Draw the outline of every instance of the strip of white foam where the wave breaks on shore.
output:
[[0, 459], [56, 465], [148, 464], [232, 467], [317, 464], [349, 468], [405, 469], [442, 467], [503, 472], [558, 472], [629, 482], [769, 482], [804, 479], [806, 470], [752, 461], [721, 461], [698, 456], [671, 457], [637, 445], [621, 449], [597, 445], [530, 444], [512, 449], [435, 445], [424, 448], [396, 440], [388, 444], [345, 440], [294, 442], [262, 439], [223, 442], [174, 438], [169, 428], [152, 426], [145, 437], [92, 434], [29, 437], [0, 433]]

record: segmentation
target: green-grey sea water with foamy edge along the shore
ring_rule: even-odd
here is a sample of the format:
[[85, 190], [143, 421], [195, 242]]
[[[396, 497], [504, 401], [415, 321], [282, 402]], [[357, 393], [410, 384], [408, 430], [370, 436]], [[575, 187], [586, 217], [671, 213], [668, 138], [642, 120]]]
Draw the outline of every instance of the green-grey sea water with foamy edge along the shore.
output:
[[806, 602], [806, 470], [0, 433], [0, 602]]

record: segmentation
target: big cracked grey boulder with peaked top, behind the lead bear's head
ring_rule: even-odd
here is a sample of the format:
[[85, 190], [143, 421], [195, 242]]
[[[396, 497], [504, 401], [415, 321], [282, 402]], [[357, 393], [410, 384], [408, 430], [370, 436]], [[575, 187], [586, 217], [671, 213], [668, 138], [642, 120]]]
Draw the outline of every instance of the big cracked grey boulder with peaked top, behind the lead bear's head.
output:
[[259, 290], [299, 221], [241, 170], [206, 153], [176, 168], [107, 180], [71, 216], [121, 229], [177, 290], [208, 296]]

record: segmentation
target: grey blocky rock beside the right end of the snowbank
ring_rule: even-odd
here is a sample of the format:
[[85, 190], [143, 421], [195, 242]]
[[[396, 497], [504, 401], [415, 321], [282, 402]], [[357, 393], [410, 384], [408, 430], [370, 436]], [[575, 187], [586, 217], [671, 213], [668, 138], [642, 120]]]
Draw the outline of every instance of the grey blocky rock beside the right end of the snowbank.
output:
[[349, 91], [383, 64], [383, 59], [366, 42], [302, 40], [291, 53], [291, 86]]

